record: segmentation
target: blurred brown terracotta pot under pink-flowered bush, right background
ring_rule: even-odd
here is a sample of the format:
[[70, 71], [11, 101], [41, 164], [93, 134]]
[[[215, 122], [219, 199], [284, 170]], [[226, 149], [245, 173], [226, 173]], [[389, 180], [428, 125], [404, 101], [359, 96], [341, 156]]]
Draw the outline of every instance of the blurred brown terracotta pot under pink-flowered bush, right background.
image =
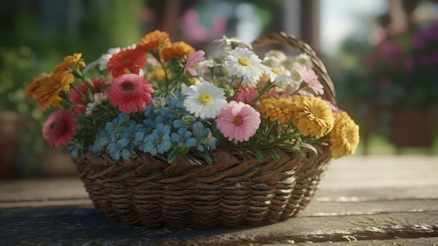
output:
[[398, 147], [430, 147], [435, 137], [432, 111], [395, 111], [391, 141]]

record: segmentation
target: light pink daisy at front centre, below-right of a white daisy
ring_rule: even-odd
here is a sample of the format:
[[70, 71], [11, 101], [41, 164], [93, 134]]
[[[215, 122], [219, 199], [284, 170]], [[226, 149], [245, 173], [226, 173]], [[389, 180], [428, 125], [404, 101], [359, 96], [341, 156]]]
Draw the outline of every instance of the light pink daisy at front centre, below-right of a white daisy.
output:
[[248, 104], [231, 101], [220, 109], [216, 125], [229, 141], [248, 141], [260, 125], [260, 113]]

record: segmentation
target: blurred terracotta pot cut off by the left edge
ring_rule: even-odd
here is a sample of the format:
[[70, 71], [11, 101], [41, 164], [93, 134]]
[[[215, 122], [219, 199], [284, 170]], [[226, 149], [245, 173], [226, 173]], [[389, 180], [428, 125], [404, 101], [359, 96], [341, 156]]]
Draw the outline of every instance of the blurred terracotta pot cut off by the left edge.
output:
[[0, 111], [0, 179], [13, 177], [23, 125], [20, 114]]

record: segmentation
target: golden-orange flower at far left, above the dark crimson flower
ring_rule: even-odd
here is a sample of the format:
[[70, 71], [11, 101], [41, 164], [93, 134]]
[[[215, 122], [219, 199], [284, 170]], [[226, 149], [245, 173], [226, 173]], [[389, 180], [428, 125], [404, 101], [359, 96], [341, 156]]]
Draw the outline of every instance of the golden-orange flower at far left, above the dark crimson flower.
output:
[[69, 91], [70, 84], [73, 81], [74, 76], [69, 71], [58, 71], [40, 84], [38, 90], [36, 90], [36, 97], [47, 108], [50, 108], [50, 105], [58, 107], [62, 101], [59, 93], [62, 90]]

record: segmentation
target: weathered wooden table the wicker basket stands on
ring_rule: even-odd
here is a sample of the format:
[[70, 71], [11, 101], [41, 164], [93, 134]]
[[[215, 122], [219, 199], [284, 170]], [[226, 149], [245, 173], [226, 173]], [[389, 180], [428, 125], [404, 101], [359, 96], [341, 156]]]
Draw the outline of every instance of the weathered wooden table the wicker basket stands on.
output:
[[0, 245], [292, 244], [438, 245], [438, 156], [333, 160], [297, 217], [207, 231], [113, 224], [76, 177], [0, 182]]

